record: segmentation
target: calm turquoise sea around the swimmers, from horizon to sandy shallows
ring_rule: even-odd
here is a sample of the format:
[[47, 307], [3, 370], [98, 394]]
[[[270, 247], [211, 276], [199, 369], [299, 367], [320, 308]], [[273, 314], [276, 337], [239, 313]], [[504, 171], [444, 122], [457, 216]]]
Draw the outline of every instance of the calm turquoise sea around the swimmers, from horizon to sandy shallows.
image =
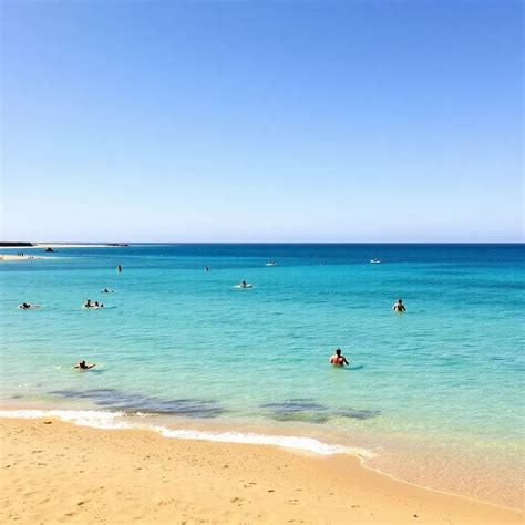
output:
[[[0, 266], [4, 406], [312, 436], [366, 449], [371, 466], [408, 481], [517, 505], [522, 245], [135, 245], [45, 255], [54, 258]], [[243, 279], [254, 287], [235, 288]], [[399, 297], [404, 315], [391, 310]], [[87, 298], [105, 308], [81, 308]], [[19, 310], [22, 301], [41, 308]], [[337, 347], [348, 369], [328, 366]], [[72, 371], [80, 359], [96, 369]]]

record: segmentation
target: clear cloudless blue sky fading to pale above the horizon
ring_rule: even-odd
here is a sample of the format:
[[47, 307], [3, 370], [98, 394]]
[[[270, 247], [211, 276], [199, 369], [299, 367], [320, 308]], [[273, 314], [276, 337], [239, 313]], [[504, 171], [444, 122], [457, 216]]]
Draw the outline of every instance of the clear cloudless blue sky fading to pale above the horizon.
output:
[[1, 0], [1, 238], [523, 241], [523, 14]]

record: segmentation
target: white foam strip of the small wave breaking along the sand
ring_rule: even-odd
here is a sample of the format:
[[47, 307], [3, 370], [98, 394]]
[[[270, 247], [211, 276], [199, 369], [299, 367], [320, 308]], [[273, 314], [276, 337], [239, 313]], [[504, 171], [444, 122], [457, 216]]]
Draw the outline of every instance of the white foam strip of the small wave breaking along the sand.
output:
[[[143, 415], [143, 414], [141, 414]], [[177, 440], [215, 441], [220, 443], [246, 443], [257, 445], [275, 445], [311, 452], [320, 455], [357, 454], [361, 457], [373, 457], [374, 454], [367, 449], [356, 449], [342, 445], [322, 443], [313, 437], [294, 435], [256, 434], [250, 432], [205, 432], [187, 429], [168, 429], [161, 425], [147, 425], [130, 420], [124, 421], [124, 412], [106, 412], [99, 410], [0, 410], [0, 418], [40, 419], [56, 418], [61, 421], [81, 426], [95, 429], [135, 429], [151, 430], [164, 437]]]

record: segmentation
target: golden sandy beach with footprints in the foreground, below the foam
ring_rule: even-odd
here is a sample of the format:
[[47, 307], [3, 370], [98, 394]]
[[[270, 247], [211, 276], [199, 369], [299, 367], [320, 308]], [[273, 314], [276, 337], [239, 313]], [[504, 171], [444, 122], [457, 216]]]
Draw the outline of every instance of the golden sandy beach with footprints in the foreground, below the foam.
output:
[[3, 523], [523, 523], [353, 456], [2, 420]]

